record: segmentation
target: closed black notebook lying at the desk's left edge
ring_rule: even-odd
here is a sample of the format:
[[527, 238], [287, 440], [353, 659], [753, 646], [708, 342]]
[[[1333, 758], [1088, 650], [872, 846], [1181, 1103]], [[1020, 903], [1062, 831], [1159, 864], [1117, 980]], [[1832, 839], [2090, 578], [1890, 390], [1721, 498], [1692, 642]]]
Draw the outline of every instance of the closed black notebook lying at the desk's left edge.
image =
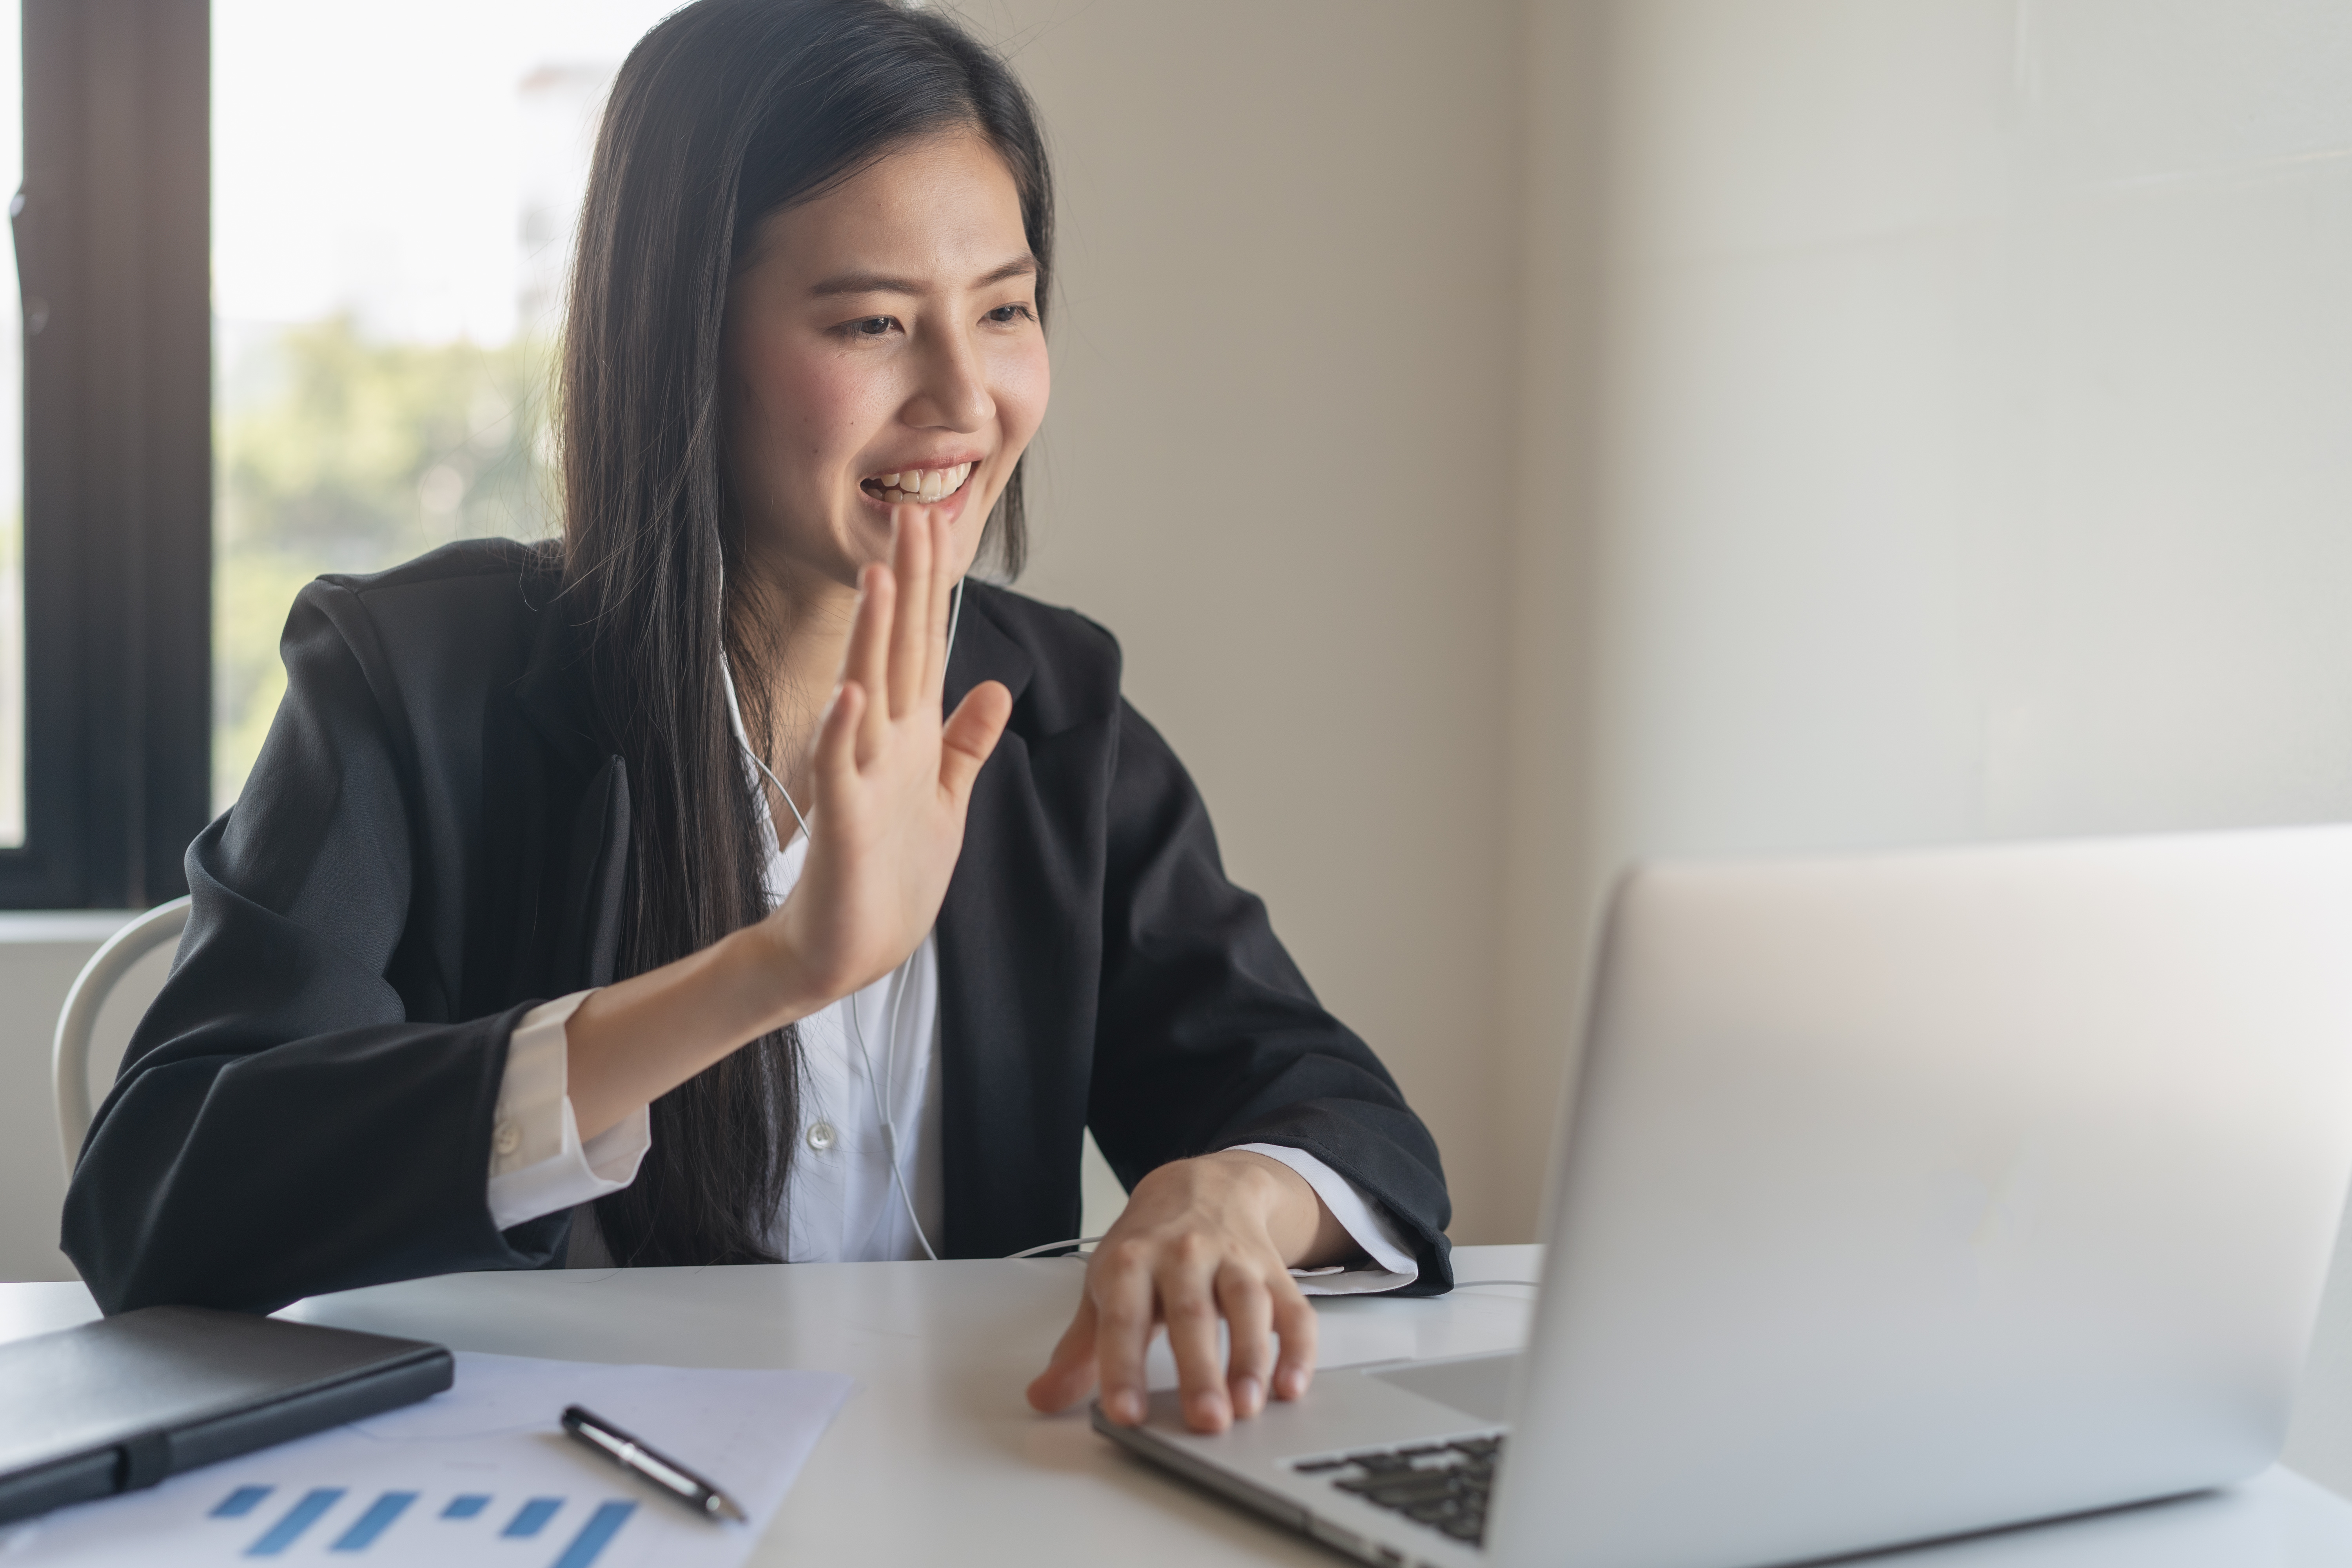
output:
[[414, 1403], [454, 1371], [440, 1345], [209, 1307], [0, 1345], [0, 1521]]

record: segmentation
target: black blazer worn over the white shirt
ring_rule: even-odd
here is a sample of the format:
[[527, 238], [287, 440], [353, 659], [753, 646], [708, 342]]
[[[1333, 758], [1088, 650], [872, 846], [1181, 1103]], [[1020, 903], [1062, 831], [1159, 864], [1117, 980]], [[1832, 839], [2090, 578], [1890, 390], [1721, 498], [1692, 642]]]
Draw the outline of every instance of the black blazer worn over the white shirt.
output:
[[[473, 541], [301, 590], [287, 696], [66, 1194], [108, 1312], [550, 1267], [499, 1232], [506, 1041], [614, 978], [628, 776], [595, 743], [546, 545]], [[1451, 1286], [1437, 1147], [1225, 882], [1192, 780], [1091, 621], [974, 583], [948, 705], [1014, 693], [938, 912], [948, 1258], [1077, 1234], [1080, 1128], [1134, 1185], [1279, 1143], [1374, 1194]]]

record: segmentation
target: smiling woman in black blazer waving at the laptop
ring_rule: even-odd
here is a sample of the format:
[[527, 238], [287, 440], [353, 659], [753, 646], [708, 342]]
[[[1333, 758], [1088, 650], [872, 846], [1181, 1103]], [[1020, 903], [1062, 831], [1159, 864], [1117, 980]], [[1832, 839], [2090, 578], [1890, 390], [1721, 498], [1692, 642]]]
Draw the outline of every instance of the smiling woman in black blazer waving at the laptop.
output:
[[564, 538], [296, 599], [66, 1201], [108, 1309], [1004, 1255], [1077, 1229], [1087, 1126], [1131, 1197], [1040, 1408], [1141, 1420], [1164, 1321], [1218, 1429], [1305, 1389], [1294, 1267], [1449, 1286], [1437, 1150], [1117, 646], [967, 583], [1021, 564], [1049, 263], [1030, 106], [955, 24], [703, 0], [640, 42]]

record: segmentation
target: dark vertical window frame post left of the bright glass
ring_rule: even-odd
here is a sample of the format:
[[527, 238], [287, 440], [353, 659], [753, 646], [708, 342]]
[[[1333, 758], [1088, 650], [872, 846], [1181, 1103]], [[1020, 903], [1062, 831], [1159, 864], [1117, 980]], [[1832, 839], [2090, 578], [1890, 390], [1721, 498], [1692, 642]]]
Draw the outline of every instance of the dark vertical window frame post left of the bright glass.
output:
[[26, 842], [0, 907], [188, 891], [212, 818], [212, 7], [24, 0]]

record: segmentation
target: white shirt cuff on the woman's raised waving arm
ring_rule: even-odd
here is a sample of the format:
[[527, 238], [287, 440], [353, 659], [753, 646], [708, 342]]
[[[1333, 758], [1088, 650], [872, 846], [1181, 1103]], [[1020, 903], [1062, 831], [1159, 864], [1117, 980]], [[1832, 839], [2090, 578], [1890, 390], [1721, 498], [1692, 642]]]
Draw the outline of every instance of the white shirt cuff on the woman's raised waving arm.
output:
[[572, 1095], [564, 1025], [588, 992], [543, 1001], [522, 1016], [506, 1041], [506, 1077], [489, 1133], [489, 1222], [510, 1229], [524, 1220], [595, 1201], [637, 1180], [637, 1164], [654, 1145], [647, 1107], [581, 1143]]

